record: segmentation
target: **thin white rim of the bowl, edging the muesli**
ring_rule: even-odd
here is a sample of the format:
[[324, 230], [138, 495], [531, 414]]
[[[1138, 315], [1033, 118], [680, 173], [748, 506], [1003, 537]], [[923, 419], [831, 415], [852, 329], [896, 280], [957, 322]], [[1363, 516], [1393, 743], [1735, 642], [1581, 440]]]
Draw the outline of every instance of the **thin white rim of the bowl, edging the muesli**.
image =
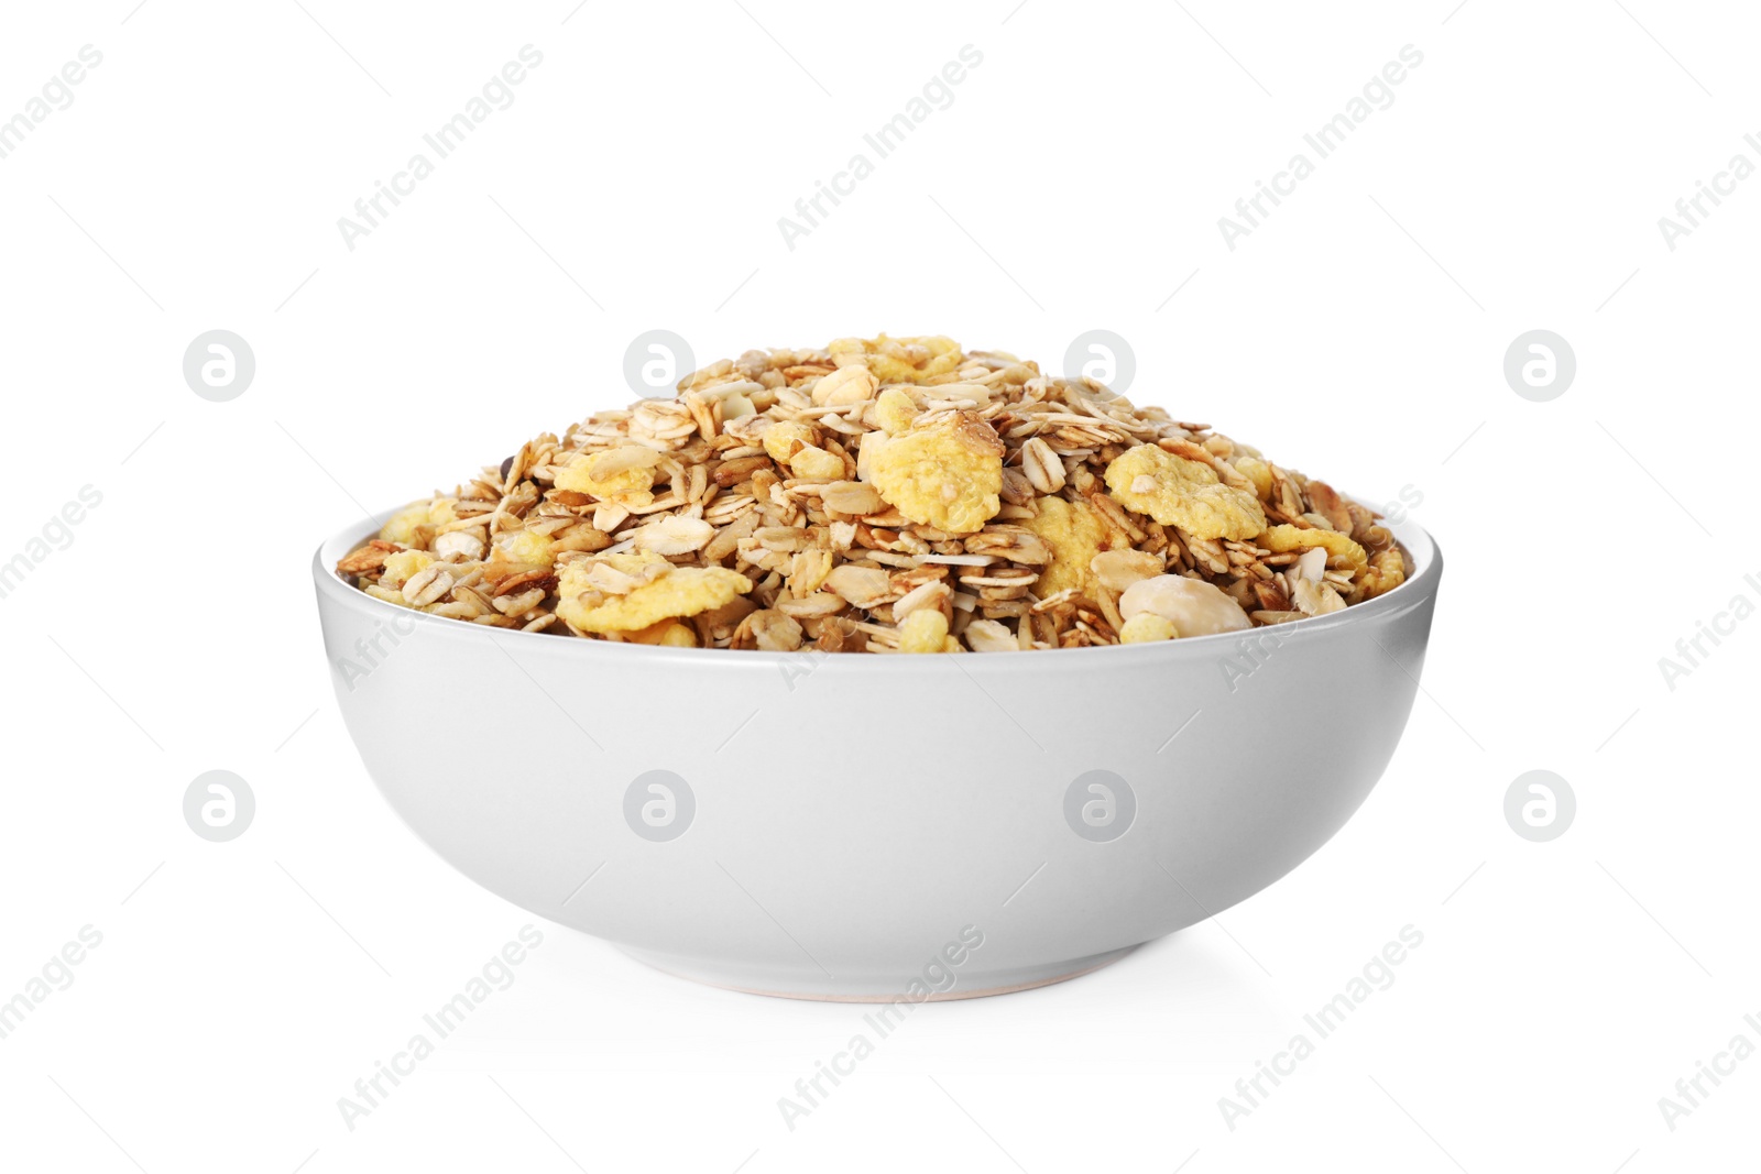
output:
[[[1361, 498], [1359, 498], [1361, 500]], [[394, 505], [391, 509], [380, 510], [372, 517], [363, 517], [319, 544], [312, 553], [312, 577], [317, 584], [319, 595], [328, 597], [345, 607], [352, 607], [365, 616], [377, 620], [386, 620], [391, 616], [409, 616], [423, 614], [412, 613], [409, 607], [400, 607], [389, 604], [382, 598], [373, 598], [366, 591], [350, 586], [342, 581], [335, 572], [336, 561], [356, 549], [370, 537], [379, 533], [379, 528], [391, 519], [402, 509], [410, 503]], [[370, 525], [368, 525], [370, 523]], [[1425, 602], [1425, 597], [1433, 595], [1437, 583], [1442, 577], [1442, 547], [1430, 535], [1428, 530], [1414, 523], [1411, 517], [1402, 523], [1391, 523], [1382, 519], [1395, 539], [1407, 547], [1412, 556], [1414, 572], [1405, 583], [1395, 590], [1377, 595], [1365, 604], [1354, 604], [1344, 611], [1335, 611], [1326, 616], [1308, 616], [1305, 620], [1293, 620], [1289, 623], [1280, 623], [1273, 627], [1247, 628], [1240, 632], [1217, 632], [1212, 635], [1189, 635], [1173, 641], [1153, 641], [1146, 644], [1109, 644], [1104, 648], [1034, 648], [1018, 653], [998, 653], [998, 655], [969, 655], [960, 658], [960, 667], [969, 665], [990, 665], [991, 662], [1002, 662], [1002, 667], [1020, 665], [1021, 657], [1030, 658], [1030, 664], [1065, 664], [1076, 667], [1078, 660], [1083, 658], [1085, 664], [1094, 664], [1097, 657], [1111, 657], [1115, 664], [1125, 667], [1129, 664], [1141, 664], [1148, 658], [1162, 660], [1210, 660], [1217, 655], [1231, 655], [1234, 648], [1243, 639], [1263, 639], [1266, 634], [1273, 634], [1278, 639], [1294, 639], [1296, 635], [1323, 635], [1338, 628], [1358, 627], [1384, 616], [1389, 613], [1400, 613], [1407, 607], [1416, 607]], [[715, 665], [748, 665], [748, 667], [766, 667], [766, 665], [798, 665], [801, 658], [810, 653], [792, 651], [792, 653], [773, 653], [763, 649], [734, 649], [734, 648], [673, 648], [659, 644], [632, 644], [625, 641], [592, 641], [592, 639], [567, 639], [548, 635], [544, 632], [521, 632], [519, 628], [498, 628], [486, 623], [465, 623], [463, 620], [453, 620], [442, 625], [438, 630], [453, 632], [460, 637], [470, 639], [475, 634], [481, 639], [495, 641], [497, 637], [518, 637], [519, 641], [532, 641], [532, 648], [549, 646], [553, 649], [578, 648], [579, 651], [564, 653], [572, 657], [630, 657], [652, 664], [674, 664], [674, 665], [692, 665], [697, 669]], [[925, 662], [942, 660], [939, 657], [910, 657], [910, 655], [875, 655], [875, 657], [840, 657], [835, 653], [824, 653], [829, 660], [817, 662], [819, 665], [838, 664], [838, 665], [866, 665], [865, 672], [898, 672], [907, 671], [905, 665], [923, 667]], [[1044, 658], [1055, 657], [1053, 662]], [[1136, 660], [1131, 660], [1136, 658]], [[815, 669], [817, 671], [817, 669]]]

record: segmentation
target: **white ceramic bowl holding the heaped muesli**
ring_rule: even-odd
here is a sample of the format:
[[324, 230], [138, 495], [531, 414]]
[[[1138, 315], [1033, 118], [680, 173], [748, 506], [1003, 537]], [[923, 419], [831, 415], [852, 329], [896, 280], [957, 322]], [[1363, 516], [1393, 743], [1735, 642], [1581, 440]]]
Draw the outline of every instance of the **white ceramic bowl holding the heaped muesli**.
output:
[[1416, 574], [1368, 604], [1032, 653], [648, 648], [423, 618], [331, 570], [365, 525], [312, 574], [361, 759], [449, 864], [676, 975], [893, 1002], [1085, 973], [1326, 843], [1388, 766], [1430, 635], [1442, 558], [1393, 530]]

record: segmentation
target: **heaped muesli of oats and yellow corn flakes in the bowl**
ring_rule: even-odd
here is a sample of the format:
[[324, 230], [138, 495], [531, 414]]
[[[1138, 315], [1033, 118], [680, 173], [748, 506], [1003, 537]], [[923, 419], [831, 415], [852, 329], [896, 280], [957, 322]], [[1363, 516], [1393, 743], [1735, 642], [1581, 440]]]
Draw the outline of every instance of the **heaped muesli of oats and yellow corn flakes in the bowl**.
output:
[[1407, 576], [1377, 517], [1094, 380], [882, 334], [748, 350], [537, 437], [336, 574], [527, 632], [990, 653], [1340, 611]]

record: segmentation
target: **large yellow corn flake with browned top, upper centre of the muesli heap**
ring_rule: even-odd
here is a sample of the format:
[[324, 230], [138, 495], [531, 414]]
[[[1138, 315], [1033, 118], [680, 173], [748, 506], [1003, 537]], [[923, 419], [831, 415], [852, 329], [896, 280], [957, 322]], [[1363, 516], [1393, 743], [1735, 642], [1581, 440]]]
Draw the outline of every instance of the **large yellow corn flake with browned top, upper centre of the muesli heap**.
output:
[[1002, 509], [1002, 440], [960, 414], [900, 437], [863, 440], [863, 479], [919, 526], [976, 533]]

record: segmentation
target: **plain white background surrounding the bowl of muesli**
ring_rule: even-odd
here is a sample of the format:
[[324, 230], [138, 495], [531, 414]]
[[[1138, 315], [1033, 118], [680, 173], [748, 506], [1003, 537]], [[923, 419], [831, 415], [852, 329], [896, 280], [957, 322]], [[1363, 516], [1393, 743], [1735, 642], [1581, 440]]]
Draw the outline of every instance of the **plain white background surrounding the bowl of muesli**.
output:
[[[1761, 600], [1761, 180], [1673, 252], [1657, 218], [1761, 162], [1754, 14], [1013, 4], [11, 5], [0, 116], [81, 46], [104, 60], [0, 160], [0, 560], [104, 496], [0, 600], [0, 998], [81, 926], [104, 940], [0, 1040], [0, 1165], [1752, 1167], [1761, 1060], [1673, 1132], [1657, 1098], [1761, 1044], [1761, 621], [1675, 690], [1657, 660]], [[336, 218], [525, 44], [544, 62], [514, 104], [350, 252]], [[777, 218], [965, 44], [953, 106], [789, 250]], [[1407, 44], [1393, 106], [1231, 252], [1217, 218]], [[257, 359], [231, 403], [181, 377], [217, 327]], [[1051, 370], [1106, 327], [1134, 400], [1370, 502], [1421, 493], [1449, 565], [1393, 766], [1220, 926], [925, 1007], [792, 1132], [777, 1098], [859, 1009], [697, 987], [555, 926], [350, 1132], [338, 1097], [532, 919], [375, 794], [306, 560], [627, 401], [650, 327], [704, 363], [884, 329]], [[1502, 377], [1537, 327], [1578, 357], [1550, 403]], [[511, 771], [560, 746], [500, 736]], [[220, 845], [180, 810], [217, 767], [257, 796]], [[1576, 790], [1551, 843], [1504, 822], [1529, 769]], [[1219, 1098], [1407, 924], [1396, 982], [1227, 1128]]]

